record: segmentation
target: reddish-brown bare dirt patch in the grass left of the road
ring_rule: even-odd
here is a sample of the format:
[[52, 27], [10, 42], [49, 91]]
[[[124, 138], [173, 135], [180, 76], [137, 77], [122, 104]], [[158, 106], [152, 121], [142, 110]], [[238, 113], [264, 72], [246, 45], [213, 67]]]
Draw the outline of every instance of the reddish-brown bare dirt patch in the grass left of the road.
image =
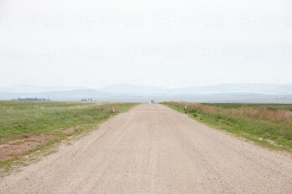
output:
[[56, 135], [38, 135], [30, 137], [22, 136], [21, 139], [9, 141], [0, 145], [0, 160], [8, 160], [14, 157], [15, 154], [27, 152], [29, 149], [46, 143], [48, 140], [58, 138]]

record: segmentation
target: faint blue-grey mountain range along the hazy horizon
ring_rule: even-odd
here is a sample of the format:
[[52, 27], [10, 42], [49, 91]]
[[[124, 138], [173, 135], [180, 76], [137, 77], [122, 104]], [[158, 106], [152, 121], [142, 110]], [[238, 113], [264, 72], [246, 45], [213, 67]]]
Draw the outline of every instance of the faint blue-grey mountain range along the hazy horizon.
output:
[[291, 84], [262, 84], [262, 83], [225, 83], [212, 86], [190, 86], [182, 88], [157, 87], [152, 85], [131, 85], [118, 84], [104, 86], [101, 88], [89, 89], [82, 87], [76, 89], [69, 87], [44, 87], [44, 86], [25, 86], [16, 85], [13, 87], [0, 88], [0, 93], [10, 95], [53, 95], [53, 96], [111, 96], [111, 95], [150, 95], [160, 94], [220, 94], [220, 93], [263, 93], [263, 94], [292, 94]]

